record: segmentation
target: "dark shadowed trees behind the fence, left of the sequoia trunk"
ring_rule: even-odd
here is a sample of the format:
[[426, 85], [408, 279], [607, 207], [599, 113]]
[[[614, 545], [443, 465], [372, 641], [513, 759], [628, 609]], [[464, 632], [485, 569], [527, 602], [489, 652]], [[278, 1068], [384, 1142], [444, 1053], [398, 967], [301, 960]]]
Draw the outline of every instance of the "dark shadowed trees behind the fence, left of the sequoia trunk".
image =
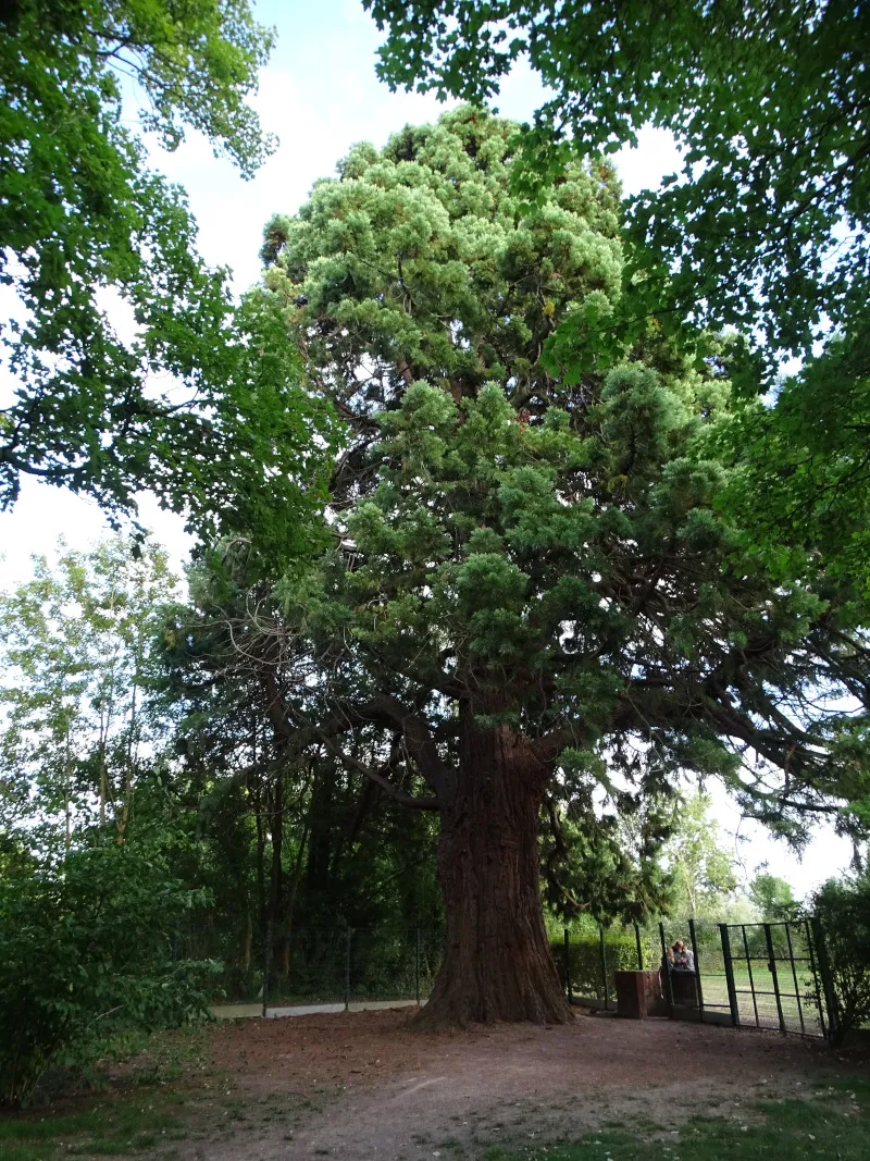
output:
[[[430, 820], [408, 821], [364, 773], [276, 713], [310, 670], [288, 646], [269, 585], [252, 583], [249, 558], [230, 547], [223, 561], [204, 561], [188, 603], [165, 611], [157, 695], [173, 721], [173, 813], [195, 817], [209, 845], [216, 924], [247, 949], [232, 960], [248, 971], [253, 942], [262, 951], [270, 933], [281, 988], [299, 932], [430, 929], [441, 910]], [[353, 753], [371, 751], [360, 738]]]

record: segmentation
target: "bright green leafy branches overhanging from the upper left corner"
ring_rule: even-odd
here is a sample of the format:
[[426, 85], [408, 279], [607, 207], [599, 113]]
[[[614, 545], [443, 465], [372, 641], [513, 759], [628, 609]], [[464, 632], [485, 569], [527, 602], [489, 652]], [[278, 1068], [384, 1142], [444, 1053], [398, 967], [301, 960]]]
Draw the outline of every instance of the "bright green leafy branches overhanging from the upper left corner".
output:
[[2, 6], [0, 282], [17, 303], [0, 336], [0, 506], [31, 475], [115, 514], [148, 486], [206, 534], [249, 527], [270, 498], [292, 522], [313, 468], [287, 333], [268, 296], [234, 308], [122, 110], [126, 77], [165, 146], [197, 130], [247, 176], [273, 147], [246, 103], [273, 39], [247, 0]]

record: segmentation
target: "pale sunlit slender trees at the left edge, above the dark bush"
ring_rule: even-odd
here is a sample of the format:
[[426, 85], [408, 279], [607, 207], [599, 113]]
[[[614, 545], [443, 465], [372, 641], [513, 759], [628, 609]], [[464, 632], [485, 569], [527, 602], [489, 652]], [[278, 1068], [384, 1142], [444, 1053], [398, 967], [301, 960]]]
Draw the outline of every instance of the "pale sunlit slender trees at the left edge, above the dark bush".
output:
[[123, 838], [154, 722], [145, 705], [166, 555], [123, 540], [42, 557], [0, 594], [0, 827], [70, 846], [97, 821]]

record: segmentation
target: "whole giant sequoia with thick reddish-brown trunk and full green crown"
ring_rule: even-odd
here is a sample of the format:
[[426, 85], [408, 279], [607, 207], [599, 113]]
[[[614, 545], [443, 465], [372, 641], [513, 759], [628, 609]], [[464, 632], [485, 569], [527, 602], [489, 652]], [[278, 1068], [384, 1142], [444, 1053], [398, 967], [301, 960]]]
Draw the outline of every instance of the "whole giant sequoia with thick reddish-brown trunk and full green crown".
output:
[[639, 806], [697, 771], [793, 830], [857, 828], [838, 800], [868, 794], [860, 612], [810, 554], [774, 575], [717, 511], [737, 469], [710, 450], [715, 363], [651, 325], [607, 375], [542, 368], [561, 319], [619, 294], [618, 189], [577, 165], [523, 216], [513, 129], [464, 108], [357, 146], [263, 250], [347, 423], [334, 549], [278, 589], [300, 676], [271, 716], [440, 812], [428, 1025], [568, 1018], [537, 845], [559, 799]]

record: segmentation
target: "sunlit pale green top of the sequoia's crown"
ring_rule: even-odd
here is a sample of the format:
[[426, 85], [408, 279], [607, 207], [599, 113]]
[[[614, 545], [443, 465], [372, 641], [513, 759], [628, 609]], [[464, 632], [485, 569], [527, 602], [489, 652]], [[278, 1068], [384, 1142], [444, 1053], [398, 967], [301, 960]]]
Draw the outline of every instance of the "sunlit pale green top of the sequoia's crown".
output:
[[[377, 405], [386, 375], [407, 378], [404, 361], [412, 378], [444, 385], [513, 378], [521, 402], [546, 381], [538, 355], [557, 315], [618, 294], [612, 171], [577, 166], [523, 217], [507, 182], [513, 131], [464, 110], [406, 129], [382, 154], [357, 146], [347, 175], [318, 182], [298, 218], [269, 223], [267, 284], [289, 304], [307, 300], [296, 316], [305, 354], [328, 366], [333, 397], [360, 390]], [[368, 382], [357, 381], [363, 356]]]

